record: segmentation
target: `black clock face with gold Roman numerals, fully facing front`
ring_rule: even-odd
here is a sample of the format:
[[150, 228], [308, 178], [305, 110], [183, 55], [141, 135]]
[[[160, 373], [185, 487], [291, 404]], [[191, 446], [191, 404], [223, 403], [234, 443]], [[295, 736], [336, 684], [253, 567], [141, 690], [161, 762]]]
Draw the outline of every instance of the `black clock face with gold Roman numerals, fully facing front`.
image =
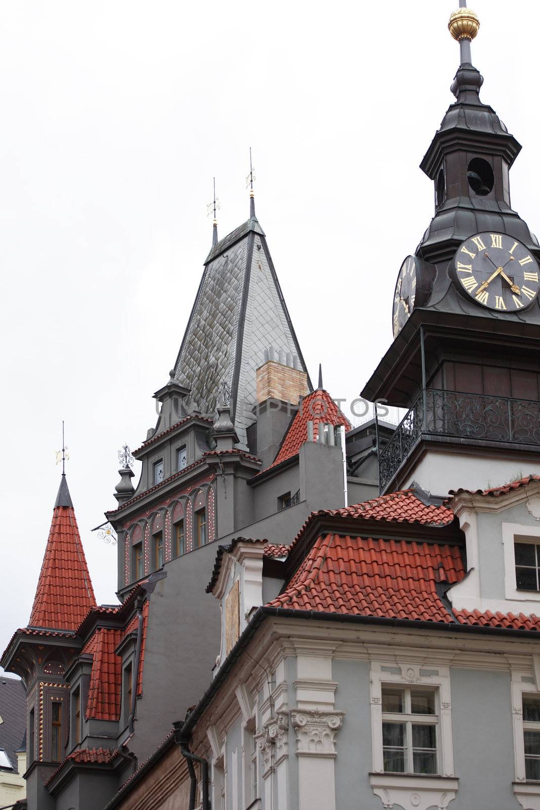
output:
[[538, 296], [538, 262], [530, 250], [504, 233], [477, 233], [457, 249], [457, 283], [487, 309], [517, 312]]

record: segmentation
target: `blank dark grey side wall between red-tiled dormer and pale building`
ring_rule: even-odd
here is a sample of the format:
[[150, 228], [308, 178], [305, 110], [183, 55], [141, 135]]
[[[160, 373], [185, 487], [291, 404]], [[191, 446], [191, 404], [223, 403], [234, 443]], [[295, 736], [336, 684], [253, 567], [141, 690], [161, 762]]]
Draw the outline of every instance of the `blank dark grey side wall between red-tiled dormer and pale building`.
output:
[[183, 720], [210, 684], [219, 654], [219, 606], [205, 593], [217, 543], [177, 557], [165, 566], [150, 597], [135, 735], [130, 749], [145, 760]]

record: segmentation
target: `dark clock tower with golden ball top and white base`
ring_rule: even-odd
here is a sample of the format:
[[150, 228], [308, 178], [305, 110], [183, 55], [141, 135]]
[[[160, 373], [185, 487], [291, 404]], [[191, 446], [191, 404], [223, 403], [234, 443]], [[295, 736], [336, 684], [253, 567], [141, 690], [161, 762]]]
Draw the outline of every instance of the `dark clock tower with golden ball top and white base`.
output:
[[474, 11], [449, 20], [461, 63], [420, 168], [435, 212], [398, 272], [393, 343], [362, 391], [406, 408], [379, 449], [381, 492], [436, 495], [540, 473], [540, 247], [510, 201], [521, 146], [480, 100]]

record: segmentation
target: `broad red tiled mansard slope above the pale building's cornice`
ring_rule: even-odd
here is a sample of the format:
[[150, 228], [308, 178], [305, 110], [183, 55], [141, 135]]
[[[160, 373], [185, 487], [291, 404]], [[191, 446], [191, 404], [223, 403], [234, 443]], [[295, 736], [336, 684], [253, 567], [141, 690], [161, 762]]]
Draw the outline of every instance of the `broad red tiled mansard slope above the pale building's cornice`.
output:
[[321, 535], [269, 605], [450, 624], [436, 582], [464, 575], [457, 546]]

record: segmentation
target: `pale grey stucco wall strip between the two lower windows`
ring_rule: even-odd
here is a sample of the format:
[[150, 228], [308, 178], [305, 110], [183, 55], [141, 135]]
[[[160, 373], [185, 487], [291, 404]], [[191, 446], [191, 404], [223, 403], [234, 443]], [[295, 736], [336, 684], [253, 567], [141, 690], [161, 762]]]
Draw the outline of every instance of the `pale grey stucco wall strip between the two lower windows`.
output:
[[521, 810], [512, 793], [514, 751], [508, 672], [451, 670], [454, 767], [452, 810]]

